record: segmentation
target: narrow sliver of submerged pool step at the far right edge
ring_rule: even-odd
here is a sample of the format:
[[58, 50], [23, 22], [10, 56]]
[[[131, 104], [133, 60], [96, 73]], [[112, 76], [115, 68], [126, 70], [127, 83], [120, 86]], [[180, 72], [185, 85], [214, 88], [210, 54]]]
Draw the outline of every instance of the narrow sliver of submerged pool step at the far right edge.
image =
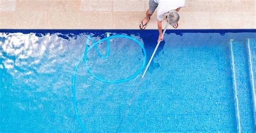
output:
[[247, 55], [248, 55], [248, 68], [250, 73], [250, 82], [252, 88], [252, 101], [253, 101], [253, 115], [254, 115], [254, 131], [256, 132], [256, 39], [247, 39], [246, 42]]

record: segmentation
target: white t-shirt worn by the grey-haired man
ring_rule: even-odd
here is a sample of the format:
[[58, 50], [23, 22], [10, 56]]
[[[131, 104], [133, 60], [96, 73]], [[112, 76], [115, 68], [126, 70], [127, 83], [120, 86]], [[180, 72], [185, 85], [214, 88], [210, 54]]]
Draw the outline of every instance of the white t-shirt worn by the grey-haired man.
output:
[[167, 12], [185, 6], [185, 0], [154, 0], [154, 2], [158, 3], [157, 19], [159, 21], [163, 21]]

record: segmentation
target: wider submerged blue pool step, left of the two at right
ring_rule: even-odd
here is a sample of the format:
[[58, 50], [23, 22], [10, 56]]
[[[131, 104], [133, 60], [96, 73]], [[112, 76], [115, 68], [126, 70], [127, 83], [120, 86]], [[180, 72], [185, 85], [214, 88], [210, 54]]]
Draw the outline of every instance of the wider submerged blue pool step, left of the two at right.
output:
[[251, 83], [248, 80], [250, 75], [245, 42], [231, 39], [229, 46], [238, 132], [253, 132]]

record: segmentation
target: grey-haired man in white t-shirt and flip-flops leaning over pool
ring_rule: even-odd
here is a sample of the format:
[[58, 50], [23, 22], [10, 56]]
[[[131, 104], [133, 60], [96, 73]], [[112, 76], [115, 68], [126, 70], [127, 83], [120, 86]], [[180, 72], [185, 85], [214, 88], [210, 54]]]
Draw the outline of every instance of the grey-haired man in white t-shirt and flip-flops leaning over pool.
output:
[[179, 10], [185, 6], [185, 0], [150, 0], [149, 9], [146, 11], [146, 17], [139, 25], [140, 29], [145, 29], [150, 17], [157, 9], [157, 26], [159, 31], [158, 41], [163, 40], [164, 35], [162, 33], [162, 21], [167, 14], [167, 22], [174, 28], [178, 27]]

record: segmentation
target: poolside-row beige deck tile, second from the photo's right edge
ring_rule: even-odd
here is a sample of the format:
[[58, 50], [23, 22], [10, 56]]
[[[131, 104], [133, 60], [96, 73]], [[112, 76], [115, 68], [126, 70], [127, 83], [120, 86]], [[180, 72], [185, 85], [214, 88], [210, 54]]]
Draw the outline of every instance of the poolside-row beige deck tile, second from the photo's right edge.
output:
[[242, 12], [211, 12], [212, 28], [242, 28]]

